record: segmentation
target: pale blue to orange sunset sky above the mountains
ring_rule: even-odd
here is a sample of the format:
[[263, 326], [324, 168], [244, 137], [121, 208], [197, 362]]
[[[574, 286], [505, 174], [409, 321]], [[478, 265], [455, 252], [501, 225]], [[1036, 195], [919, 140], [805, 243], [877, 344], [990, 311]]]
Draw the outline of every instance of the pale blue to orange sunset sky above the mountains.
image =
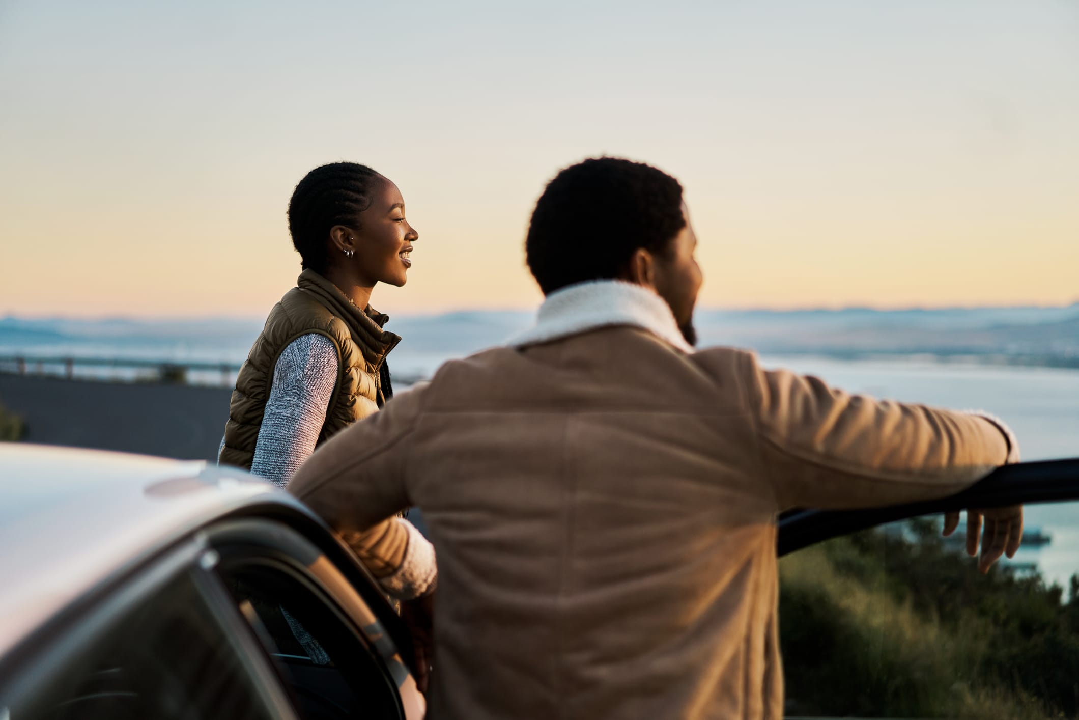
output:
[[679, 177], [701, 303], [1079, 300], [1079, 3], [0, 3], [0, 316], [263, 315], [336, 160], [420, 231], [385, 312], [527, 308], [596, 154]]

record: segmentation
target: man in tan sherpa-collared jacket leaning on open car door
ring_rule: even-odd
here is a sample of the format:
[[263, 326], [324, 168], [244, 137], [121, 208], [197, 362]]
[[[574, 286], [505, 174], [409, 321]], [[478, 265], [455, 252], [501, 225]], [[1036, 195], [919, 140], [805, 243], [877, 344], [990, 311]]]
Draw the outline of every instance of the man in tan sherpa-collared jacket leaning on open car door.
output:
[[[535, 327], [446, 364], [296, 476], [350, 539], [423, 510], [432, 717], [780, 718], [777, 513], [947, 495], [1017, 458], [992, 419], [695, 352], [695, 247], [674, 178], [612, 158], [562, 171], [528, 234]], [[1017, 549], [1021, 518], [992, 512], [983, 567]]]

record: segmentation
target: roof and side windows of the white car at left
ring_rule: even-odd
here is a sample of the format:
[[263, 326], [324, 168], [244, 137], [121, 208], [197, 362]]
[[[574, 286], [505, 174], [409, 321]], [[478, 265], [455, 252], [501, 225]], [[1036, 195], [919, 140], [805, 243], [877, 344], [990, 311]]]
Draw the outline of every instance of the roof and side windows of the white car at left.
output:
[[0, 444], [0, 720], [423, 717], [374, 581], [246, 473]]

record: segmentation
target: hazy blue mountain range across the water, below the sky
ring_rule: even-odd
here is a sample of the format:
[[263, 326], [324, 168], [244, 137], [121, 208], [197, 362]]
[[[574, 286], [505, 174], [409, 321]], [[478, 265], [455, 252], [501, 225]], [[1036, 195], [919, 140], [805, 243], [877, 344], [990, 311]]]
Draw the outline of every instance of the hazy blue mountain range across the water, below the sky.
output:
[[[504, 342], [531, 312], [394, 316], [397, 366], [429, 371], [449, 357]], [[1079, 367], [1079, 303], [1064, 308], [944, 310], [700, 310], [701, 345], [832, 357], [931, 356]], [[262, 320], [0, 318], [0, 355], [240, 363]]]

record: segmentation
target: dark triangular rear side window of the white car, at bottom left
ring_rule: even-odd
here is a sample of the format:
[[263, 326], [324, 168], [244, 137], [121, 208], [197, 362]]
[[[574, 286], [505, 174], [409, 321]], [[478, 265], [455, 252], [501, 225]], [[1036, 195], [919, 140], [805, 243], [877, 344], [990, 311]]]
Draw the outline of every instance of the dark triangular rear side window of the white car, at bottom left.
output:
[[18, 720], [262, 720], [271, 714], [237, 649], [182, 576], [112, 621], [25, 702]]

